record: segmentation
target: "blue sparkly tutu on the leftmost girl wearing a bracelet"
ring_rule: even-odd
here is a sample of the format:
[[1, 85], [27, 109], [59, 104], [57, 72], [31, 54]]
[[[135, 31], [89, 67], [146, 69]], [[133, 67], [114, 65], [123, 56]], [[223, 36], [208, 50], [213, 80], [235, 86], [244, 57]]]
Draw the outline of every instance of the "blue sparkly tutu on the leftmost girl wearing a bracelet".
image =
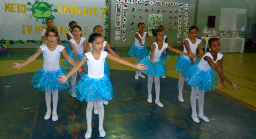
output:
[[69, 82], [72, 80], [70, 77], [65, 84], [61, 84], [58, 79], [60, 75], [67, 74], [67, 71], [60, 67], [59, 70], [46, 71], [42, 67], [32, 77], [30, 85], [38, 88], [43, 92], [55, 92], [69, 88]]

